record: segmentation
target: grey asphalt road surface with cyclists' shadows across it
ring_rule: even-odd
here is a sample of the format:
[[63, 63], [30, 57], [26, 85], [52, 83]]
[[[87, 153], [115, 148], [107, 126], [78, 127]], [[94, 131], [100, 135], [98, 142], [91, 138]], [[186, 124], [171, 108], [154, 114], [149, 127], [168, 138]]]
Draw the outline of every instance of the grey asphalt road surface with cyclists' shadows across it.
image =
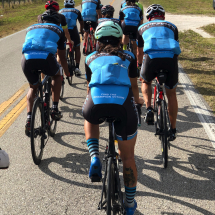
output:
[[[118, 1], [113, 1], [113, 6], [119, 11]], [[0, 104], [27, 83], [20, 66], [24, 36], [22, 31], [0, 40], [0, 48], [4, 50], [0, 54]], [[84, 59], [82, 56], [83, 73]], [[179, 135], [171, 144], [167, 169], [162, 168], [160, 142], [154, 136], [154, 127], [142, 123], [138, 131], [136, 215], [215, 214], [215, 149], [182, 85], [179, 83], [177, 88]], [[24, 94], [0, 120], [23, 97]], [[30, 140], [24, 135], [26, 109], [0, 137], [0, 146], [8, 152], [11, 162], [7, 170], [0, 170], [0, 214], [105, 214], [97, 210], [101, 183], [91, 183], [88, 178], [90, 156], [81, 115], [85, 97], [84, 75], [74, 77], [72, 87], [65, 85], [65, 97], [60, 103], [63, 119], [58, 123], [54, 139], [48, 140], [40, 166], [34, 165]], [[144, 107], [142, 111], [145, 115]], [[102, 159], [108, 138], [104, 124], [100, 135]]]

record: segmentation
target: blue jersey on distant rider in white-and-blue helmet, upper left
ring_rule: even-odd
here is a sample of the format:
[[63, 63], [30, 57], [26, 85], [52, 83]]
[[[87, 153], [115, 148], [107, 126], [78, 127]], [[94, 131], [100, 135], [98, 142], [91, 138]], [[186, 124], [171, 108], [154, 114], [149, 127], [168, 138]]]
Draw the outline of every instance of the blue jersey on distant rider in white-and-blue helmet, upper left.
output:
[[63, 8], [59, 11], [66, 18], [68, 29], [73, 29], [76, 26], [76, 21], [78, 19], [78, 14], [80, 11], [76, 8]]

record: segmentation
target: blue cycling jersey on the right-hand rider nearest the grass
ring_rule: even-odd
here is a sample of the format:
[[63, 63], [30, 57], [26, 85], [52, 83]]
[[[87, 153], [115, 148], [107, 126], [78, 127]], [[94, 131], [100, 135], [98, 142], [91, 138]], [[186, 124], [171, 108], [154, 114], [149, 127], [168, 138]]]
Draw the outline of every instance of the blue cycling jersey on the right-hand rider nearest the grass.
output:
[[181, 53], [178, 42], [178, 29], [171, 22], [153, 20], [138, 28], [144, 41], [144, 53], [150, 58], [173, 58]]

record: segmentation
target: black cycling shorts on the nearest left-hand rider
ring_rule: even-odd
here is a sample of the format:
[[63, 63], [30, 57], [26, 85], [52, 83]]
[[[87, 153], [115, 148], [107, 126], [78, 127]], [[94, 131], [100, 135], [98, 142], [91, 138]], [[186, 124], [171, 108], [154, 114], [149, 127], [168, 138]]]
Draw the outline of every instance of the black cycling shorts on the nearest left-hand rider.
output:
[[53, 54], [49, 54], [46, 59], [29, 59], [26, 60], [22, 55], [22, 70], [31, 85], [36, 85], [39, 81], [39, 74], [35, 70], [41, 70], [48, 76], [54, 76], [59, 71], [59, 64]]

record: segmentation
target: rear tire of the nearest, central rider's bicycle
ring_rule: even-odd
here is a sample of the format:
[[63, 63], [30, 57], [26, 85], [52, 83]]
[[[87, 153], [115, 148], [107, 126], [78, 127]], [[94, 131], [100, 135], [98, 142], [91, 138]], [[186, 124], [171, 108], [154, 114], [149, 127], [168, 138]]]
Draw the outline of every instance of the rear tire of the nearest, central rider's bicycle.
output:
[[107, 164], [107, 215], [113, 215], [113, 202], [114, 202], [114, 187], [115, 187], [115, 180], [114, 180], [114, 163], [113, 158], [108, 158]]

